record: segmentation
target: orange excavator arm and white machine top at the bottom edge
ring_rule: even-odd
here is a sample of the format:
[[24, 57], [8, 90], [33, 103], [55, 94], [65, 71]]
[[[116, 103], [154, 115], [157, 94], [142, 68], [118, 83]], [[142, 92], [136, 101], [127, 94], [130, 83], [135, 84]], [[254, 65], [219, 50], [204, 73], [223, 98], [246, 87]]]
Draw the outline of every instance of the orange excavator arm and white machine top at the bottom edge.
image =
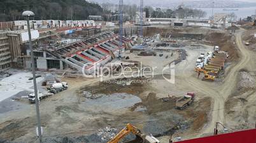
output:
[[144, 135], [138, 128], [131, 125], [131, 123], [128, 123], [127, 126], [115, 135], [113, 139], [108, 141], [108, 143], [118, 143], [129, 133], [136, 135], [136, 139], [129, 142], [160, 143], [159, 140], [155, 139], [152, 135]]

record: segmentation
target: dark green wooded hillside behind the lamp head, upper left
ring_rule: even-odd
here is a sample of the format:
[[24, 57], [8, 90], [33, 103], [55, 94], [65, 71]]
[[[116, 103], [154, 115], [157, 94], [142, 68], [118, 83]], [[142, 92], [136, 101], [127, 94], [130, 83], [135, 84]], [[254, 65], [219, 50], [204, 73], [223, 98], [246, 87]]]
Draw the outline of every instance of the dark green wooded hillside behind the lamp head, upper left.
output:
[[32, 10], [35, 20], [85, 20], [88, 15], [101, 15], [98, 4], [85, 0], [0, 0], [0, 21], [22, 20], [23, 10]]

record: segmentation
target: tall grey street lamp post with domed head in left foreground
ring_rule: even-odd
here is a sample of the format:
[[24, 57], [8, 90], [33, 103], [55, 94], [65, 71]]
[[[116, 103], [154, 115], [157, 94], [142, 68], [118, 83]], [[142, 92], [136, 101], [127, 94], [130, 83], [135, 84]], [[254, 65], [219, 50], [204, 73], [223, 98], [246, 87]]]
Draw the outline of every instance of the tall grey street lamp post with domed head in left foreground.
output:
[[22, 13], [22, 16], [24, 16], [27, 19], [27, 31], [29, 34], [29, 49], [31, 53], [31, 62], [32, 62], [32, 75], [33, 75], [33, 82], [34, 82], [34, 96], [35, 96], [35, 101], [36, 101], [36, 116], [38, 120], [38, 137], [39, 137], [39, 142], [42, 142], [42, 133], [41, 133], [41, 121], [40, 121], [40, 113], [39, 113], [39, 101], [38, 101], [38, 89], [36, 87], [36, 73], [35, 73], [35, 66], [34, 66], [34, 53], [32, 49], [32, 41], [31, 41], [31, 30], [30, 30], [30, 25], [29, 25], [29, 17], [34, 16], [34, 13], [32, 11], [24, 11]]

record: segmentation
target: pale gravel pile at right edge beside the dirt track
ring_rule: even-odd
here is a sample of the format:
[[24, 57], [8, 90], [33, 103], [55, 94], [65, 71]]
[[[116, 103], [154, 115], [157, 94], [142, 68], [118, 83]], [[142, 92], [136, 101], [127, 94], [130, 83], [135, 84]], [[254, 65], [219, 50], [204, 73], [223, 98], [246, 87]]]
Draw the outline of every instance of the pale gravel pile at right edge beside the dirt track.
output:
[[238, 90], [255, 89], [255, 79], [246, 71], [239, 72]]

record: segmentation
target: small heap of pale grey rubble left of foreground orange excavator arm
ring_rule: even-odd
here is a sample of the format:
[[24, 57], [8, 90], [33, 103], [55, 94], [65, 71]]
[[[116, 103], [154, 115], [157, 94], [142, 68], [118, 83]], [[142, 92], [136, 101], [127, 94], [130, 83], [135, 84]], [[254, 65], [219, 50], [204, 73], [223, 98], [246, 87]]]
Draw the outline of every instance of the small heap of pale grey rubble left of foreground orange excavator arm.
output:
[[106, 127], [98, 131], [99, 132], [97, 133], [97, 135], [101, 137], [101, 140], [103, 141], [108, 141], [110, 139], [113, 139], [113, 137], [115, 137], [115, 135], [117, 134], [117, 128], [111, 128], [111, 127]]

